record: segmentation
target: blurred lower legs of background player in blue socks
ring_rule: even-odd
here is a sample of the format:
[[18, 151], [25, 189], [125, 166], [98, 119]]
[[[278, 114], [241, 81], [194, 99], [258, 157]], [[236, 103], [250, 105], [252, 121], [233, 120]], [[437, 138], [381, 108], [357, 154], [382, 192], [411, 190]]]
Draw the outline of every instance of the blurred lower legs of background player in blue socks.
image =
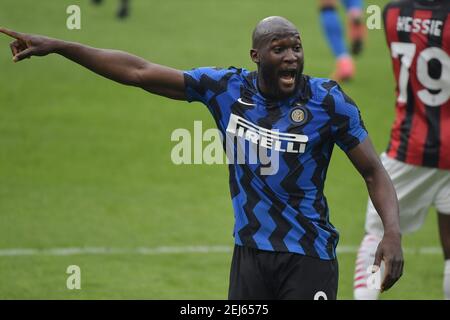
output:
[[[344, 32], [337, 12], [338, 0], [319, 0], [320, 24], [328, 45], [336, 59], [332, 78], [336, 81], [350, 80], [355, 75], [355, 64], [347, 50]], [[363, 21], [363, 0], [341, 0], [347, 14], [350, 52], [359, 55], [363, 49], [366, 29]]]

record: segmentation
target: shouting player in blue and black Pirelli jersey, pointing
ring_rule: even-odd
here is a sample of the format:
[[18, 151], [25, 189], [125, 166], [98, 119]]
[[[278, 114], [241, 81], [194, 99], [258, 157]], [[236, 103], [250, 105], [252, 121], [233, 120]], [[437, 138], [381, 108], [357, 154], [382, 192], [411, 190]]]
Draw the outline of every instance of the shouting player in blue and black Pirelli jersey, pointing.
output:
[[[335, 143], [363, 176], [383, 221], [375, 262], [387, 265], [383, 289], [401, 276], [398, 205], [389, 176], [354, 102], [336, 82], [303, 74], [300, 34], [288, 20], [258, 23], [250, 50], [253, 72], [234, 67], [183, 72], [122, 51], [0, 32], [16, 39], [14, 61], [57, 53], [114, 81], [207, 106], [234, 160], [229, 299], [336, 299], [338, 232], [323, 193]], [[267, 153], [252, 161], [253, 152], [241, 152], [236, 161], [241, 149]], [[267, 168], [267, 158], [277, 165]]]

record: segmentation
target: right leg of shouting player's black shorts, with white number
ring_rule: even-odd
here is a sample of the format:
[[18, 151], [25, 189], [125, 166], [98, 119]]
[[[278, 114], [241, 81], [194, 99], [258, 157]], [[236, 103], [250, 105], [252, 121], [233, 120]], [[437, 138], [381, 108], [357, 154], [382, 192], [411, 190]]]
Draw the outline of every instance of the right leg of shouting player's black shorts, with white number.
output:
[[277, 273], [277, 299], [336, 300], [339, 280], [337, 259], [321, 260], [295, 255]]

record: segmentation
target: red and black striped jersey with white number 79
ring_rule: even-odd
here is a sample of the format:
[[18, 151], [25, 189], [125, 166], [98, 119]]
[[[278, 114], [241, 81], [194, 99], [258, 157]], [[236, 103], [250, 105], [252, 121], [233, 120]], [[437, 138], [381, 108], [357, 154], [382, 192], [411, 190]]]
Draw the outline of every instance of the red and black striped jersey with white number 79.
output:
[[396, 88], [387, 153], [450, 169], [450, 0], [406, 0], [384, 11]]

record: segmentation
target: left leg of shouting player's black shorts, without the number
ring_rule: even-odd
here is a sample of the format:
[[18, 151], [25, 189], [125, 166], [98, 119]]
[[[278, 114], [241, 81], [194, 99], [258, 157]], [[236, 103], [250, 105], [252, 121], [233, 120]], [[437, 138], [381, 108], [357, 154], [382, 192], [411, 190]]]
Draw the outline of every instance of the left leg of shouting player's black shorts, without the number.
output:
[[231, 261], [229, 300], [274, 299], [256, 249], [235, 245]]

